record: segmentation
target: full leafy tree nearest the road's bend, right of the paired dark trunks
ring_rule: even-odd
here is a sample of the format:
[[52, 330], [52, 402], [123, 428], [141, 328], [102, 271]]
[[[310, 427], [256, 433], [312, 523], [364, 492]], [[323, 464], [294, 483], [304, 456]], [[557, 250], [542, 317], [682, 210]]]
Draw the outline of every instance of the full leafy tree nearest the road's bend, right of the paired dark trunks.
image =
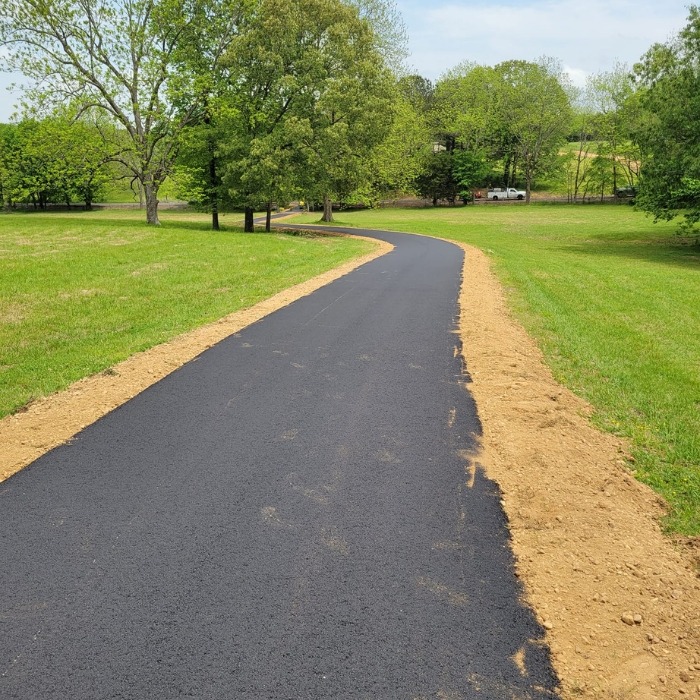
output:
[[297, 79], [303, 86], [286, 119], [307, 199], [332, 201], [371, 178], [370, 155], [391, 125], [395, 81], [377, 35], [357, 10], [338, 0], [298, 0], [306, 8], [288, 41], [303, 48]]

